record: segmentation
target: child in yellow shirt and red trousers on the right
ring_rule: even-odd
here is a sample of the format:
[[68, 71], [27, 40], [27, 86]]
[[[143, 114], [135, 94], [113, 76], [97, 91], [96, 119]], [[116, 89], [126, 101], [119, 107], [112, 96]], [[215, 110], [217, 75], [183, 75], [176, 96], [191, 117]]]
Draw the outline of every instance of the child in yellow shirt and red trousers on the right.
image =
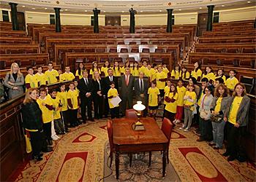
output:
[[176, 123], [180, 123], [182, 116], [183, 116], [183, 103], [184, 103], [184, 96], [185, 93], [187, 92], [186, 88], [183, 86], [183, 79], [178, 80], [178, 86], [177, 86], [177, 92], [178, 92], [178, 99], [177, 99], [177, 112], [176, 112]]

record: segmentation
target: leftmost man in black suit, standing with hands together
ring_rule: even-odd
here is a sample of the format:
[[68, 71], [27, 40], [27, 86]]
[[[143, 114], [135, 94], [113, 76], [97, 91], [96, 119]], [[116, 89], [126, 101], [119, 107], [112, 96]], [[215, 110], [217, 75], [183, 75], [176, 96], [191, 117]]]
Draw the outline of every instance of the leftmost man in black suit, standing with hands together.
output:
[[81, 100], [81, 115], [83, 123], [86, 123], [86, 107], [87, 107], [87, 116], [89, 121], [93, 121], [91, 115], [91, 102], [92, 102], [92, 80], [88, 78], [88, 72], [83, 71], [83, 78], [78, 82], [78, 90]]

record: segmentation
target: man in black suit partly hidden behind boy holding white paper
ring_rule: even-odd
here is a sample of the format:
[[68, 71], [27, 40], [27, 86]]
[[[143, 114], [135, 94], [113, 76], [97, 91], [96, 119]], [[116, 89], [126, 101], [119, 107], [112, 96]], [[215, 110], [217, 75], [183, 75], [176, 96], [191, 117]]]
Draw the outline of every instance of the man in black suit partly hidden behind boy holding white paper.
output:
[[113, 76], [113, 69], [108, 69], [108, 76], [103, 79], [103, 95], [105, 95], [105, 117], [108, 117], [109, 105], [108, 105], [108, 90], [110, 90], [110, 82], [115, 82], [115, 88], [118, 90], [118, 79]]

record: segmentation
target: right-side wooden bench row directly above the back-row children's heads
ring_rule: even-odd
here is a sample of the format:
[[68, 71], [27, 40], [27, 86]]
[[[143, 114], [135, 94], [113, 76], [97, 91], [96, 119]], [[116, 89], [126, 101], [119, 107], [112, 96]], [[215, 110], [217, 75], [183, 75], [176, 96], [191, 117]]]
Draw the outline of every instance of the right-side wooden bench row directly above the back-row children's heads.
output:
[[255, 68], [256, 54], [219, 53], [219, 52], [191, 52], [189, 63], [200, 61], [203, 65], [229, 66], [240, 68]]

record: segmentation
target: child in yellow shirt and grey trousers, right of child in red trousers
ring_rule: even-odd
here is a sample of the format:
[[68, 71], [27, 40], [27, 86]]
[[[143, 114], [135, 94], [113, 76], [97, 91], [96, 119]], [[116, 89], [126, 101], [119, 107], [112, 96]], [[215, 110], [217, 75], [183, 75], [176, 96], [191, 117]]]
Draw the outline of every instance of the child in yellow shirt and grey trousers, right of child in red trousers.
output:
[[193, 84], [189, 84], [189, 90], [184, 95], [184, 124], [179, 129], [188, 131], [192, 124], [192, 111], [195, 109], [195, 103], [197, 99], [197, 95], [194, 92], [195, 86]]

